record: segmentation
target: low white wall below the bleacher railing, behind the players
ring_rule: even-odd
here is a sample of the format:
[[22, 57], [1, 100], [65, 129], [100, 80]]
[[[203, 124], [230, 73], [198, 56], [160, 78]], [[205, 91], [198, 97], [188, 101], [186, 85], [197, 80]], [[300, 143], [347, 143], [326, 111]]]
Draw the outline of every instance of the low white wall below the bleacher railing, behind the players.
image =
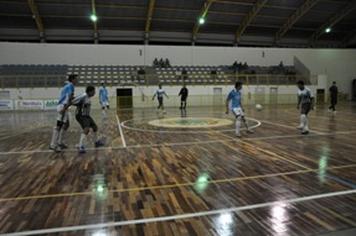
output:
[[[263, 95], [255, 95], [256, 88], [264, 89], [265, 93]], [[269, 91], [270, 88], [274, 86], [244, 86], [244, 103], [245, 104], [268, 104], [269, 103]], [[155, 93], [156, 86], [147, 87], [126, 87], [133, 89], [133, 105], [134, 107], [155, 107], [157, 101], [152, 101], [152, 96]], [[222, 89], [222, 96], [214, 96], [214, 88]], [[314, 93], [317, 86], [309, 87]], [[110, 96], [110, 105], [116, 107], [116, 87], [108, 87]], [[169, 99], [165, 99], [166, 106], [180, 105], [180, 98], [178, 97], [178, 92], [181, 86], [166, 86], [164, 87]], [[189, 106], [211, 106], [223, 105], [226, 99], [226, 95], [231, 91], [232, 86], [188, 86], [189, 89]], [[296, 86], [278, 86], [278, 103], [279, 104], [294, 104], [296, 102]], [[58, 94], [60, 92], [59, 88], [25, 88], [25, 89], [6, 89], [10, 92], [10, 97], [6, 99], [11, 100], [48, 100], [48, 99], [58, 99]], [[85, 91], [84, 87], [76, 87], [76, 95], [83, 93]], [[249, 96], [249, 93], [251, 96]], [[144, 100], [142, 100], [142, 94], [144, 94]], [[96, 95], [92, 99], [92, 104], [94, 108], [99, 108], [99, 98]]]

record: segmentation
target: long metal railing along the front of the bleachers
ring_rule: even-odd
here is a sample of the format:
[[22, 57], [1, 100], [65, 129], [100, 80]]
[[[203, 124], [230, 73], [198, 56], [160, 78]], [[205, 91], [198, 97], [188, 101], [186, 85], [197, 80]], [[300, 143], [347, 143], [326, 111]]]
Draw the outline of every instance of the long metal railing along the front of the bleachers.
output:
[[[112, 76], [100, 75], [79, 76], [78, 86], [100, 85], [107, 86], [149, 86], [159, 83], [165, 85], [229, 85], [235, 81], [241, 81], [247, 85], [294, 85], [298, 80], [304, 80], [307, 84], [315, 84], [316, 80], [298, 75], [126, 75]], [[47, 88], [62, 87], [66, 81], [65, 75], [1, 75], [1, 88]]]

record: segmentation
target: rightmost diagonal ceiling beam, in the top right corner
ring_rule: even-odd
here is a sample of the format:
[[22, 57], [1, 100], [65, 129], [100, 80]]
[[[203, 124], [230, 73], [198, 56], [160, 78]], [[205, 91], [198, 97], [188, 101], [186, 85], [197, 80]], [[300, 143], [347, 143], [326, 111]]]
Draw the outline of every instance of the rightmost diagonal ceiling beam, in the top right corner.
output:
[[310, 37], [310, 44], [313, 45], [321, 35], [325, 33], [327, 28], [332, 28], [343, 18], [349, 15], [352, 11], [356, 10], [356, 0], [349, 1], [349, 3], [335, 15], [329, 18], [322, 26], [320, 26]]

